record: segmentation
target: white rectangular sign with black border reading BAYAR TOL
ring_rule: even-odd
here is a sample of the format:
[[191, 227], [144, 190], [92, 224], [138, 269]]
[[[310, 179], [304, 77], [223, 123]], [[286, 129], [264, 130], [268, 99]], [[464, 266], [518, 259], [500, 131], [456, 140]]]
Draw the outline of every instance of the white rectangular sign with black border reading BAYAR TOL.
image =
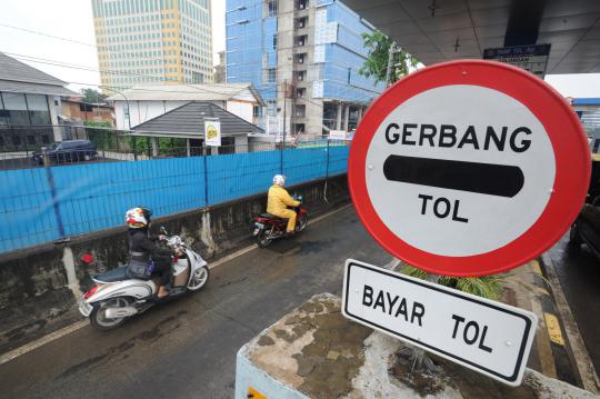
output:
[[521, 383], [536, 315], [349, 259], [343, 316], [511, 386]]

